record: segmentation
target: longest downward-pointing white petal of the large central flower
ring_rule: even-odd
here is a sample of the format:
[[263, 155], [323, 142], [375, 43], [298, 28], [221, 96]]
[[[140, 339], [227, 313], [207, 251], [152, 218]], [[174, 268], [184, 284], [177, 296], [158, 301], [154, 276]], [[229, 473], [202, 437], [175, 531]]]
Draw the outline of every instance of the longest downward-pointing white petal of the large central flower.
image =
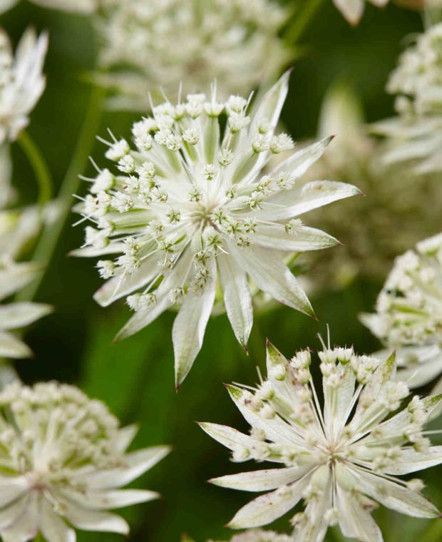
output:
[[173, 322], [172, 339], [175, 354], [175, 386], [178, 388], [190, 371], [195, 357], [202, 347], [205, 328], [215, 302], [217, 272], [215, 260], [210, 262], [205, 289], [187, 292], [183, 305]]

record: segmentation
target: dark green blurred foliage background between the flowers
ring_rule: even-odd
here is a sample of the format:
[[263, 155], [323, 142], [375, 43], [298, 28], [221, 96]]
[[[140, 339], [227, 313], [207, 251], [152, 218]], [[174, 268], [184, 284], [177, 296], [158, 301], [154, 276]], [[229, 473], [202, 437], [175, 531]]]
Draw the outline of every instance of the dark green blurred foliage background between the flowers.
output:
[[[15, 42], [30, 24], [50, 32], [47, 88], [32, 114], [29, 133], [40, 145], [58, 186], [71, 160], [91, 93], [87, 76], [96, 55], [92, 26], [86, 17], [46, 11], [25, 2], [2, 16], [0, 24]], [[304, 56], [296, 63], [282, 115], [292, 136], [296, 140], [314, 136], [322, 98], [337, 77], [346, 78], [356, 88], [367, 120], [389, 116], [393, 101], [384, 92], [386, 79], [404, 36], [421, 29], [418, 14], [394, 5], [384, 10], [367, 6], [361, 24], [352, 29], [332, 0], [324, 1], [300, 40]], [[103, 135], [110, 127], [116, 136], [128, 137], [137, 117], [106, 113], [99, 133]], [[100, 143], [92, 155], [104, 164]], [[31, 203], [36, 200], [36, 184], [18, 145], [14, 145], [13, 157], [14, 183], [22, 203]], [[73, 215], [69, 218], [38, 292], [38, 301], [52, 303], [56, 312], [29, 330], [26, 340], [36, 353], [35, 359], [17, 362], [16, 368], [27, 383], [58, 379], [77, 384], [106, 402], [123, 424], [138, 422], [136, 446], [173, 444], [173, 454], [136, 484], [160, 491], [163, 499], [123, 511], [132, 527], [130, 541], [178, 541], [182, 533], [197, 542], [228, 538], [230, 531], [222, 526], [252, 495], [210, 486], [206, 480], [255, 466], [230, 463], [227, 450], [206, 436], [195, 421], [230, 424], [247, 431], [222, 382], [253, 384], [257, 380], [256, 367], [264, 367], [266, 337], [290, 357], [296, 349], [317, 347], [317, 333], [326, 332], [328, 323], [336, 344], [354, 344], [360, 353], [379, 347], [357, 315], [372, 309], [381, 284], [355, 282], [344, 291], [313, 297], [319, 322], [284, 307], [256, 317], [249, 357], [235, 341], [227, 317], [212, 319], [202, 352], [175, 394], [170, 338], [173, 315], [163, 315], [135, 337], [111, 344], [128, 317], [128, 308], [121, 302], [105, 310], [93, 302], [92, 294], [101, 282], [93, 261], [66, 256], [83, 241], [83, 228], [71, 227], [75, 220]], [[442, 506], [440, 474], [433, 469], [426, 477], [428, 494]], [[275, 528], [287, 531], [289, 516]], [[442, 540], [438, 521], [412, 520], [388, 511], [375, 512], [375, 516], [387, 542]], [[122, 538], [78, 535], [80, 542], [117, 542]], [[327, 541], [339, 539], [334, 532], [327, 536]]]

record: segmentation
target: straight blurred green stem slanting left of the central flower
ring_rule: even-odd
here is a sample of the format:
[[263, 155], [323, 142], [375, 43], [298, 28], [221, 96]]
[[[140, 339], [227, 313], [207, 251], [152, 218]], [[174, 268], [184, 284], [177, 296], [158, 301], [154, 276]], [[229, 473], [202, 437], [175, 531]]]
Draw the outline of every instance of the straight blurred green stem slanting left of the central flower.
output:
[[[54, 223], [47, 224], [41, 234], [40, 240], [36, 246], [34, 253], [34, 260], [36, 262], [42, 262], [46, 267], [51, 262], [53, 252], [56, 250], [58, 238], [63, 231], [63, 227], [66, 224], [69, 212], [71, 210], [72, 195], [78, 190], [78, 183], [80, 175], [85, 170], [89, 154], [93, 147], [93, 143], [96, 138], [101, 116], [103, 113], [103, 101], [105, 91], [103, 88], [94, 86], [91, 91], [91, 98], [89, 101], [88, 112], [83, 121], [81, 133], [77, 141], [75, 150], [73, 151], [71, 163], [66, 171], [65, 178], [61, 184], [60, 191], [58, 193], [57, 203], [57, 217]], [[36, 280], [20, 292], [17, 297], [18, 300], [33, 300], [38, 292], [38, 288], [43, 280], [44, 271], [36, 278]]]

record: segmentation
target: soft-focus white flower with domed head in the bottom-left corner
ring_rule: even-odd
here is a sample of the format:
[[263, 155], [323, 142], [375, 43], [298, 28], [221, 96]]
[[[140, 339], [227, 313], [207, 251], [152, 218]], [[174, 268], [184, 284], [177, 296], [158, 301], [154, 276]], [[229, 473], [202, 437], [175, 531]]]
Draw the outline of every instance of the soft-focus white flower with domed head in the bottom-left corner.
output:
[[126, 452], [135, 426], [120, 428], [100, 401], [54, 382], [0, 392], [0, 535], [26, 542], [75, 542], [84, 531], [127, 535], [113, 513], [158, 498], [154, 491], [120, 489], [163, 459], [168, 446]]

